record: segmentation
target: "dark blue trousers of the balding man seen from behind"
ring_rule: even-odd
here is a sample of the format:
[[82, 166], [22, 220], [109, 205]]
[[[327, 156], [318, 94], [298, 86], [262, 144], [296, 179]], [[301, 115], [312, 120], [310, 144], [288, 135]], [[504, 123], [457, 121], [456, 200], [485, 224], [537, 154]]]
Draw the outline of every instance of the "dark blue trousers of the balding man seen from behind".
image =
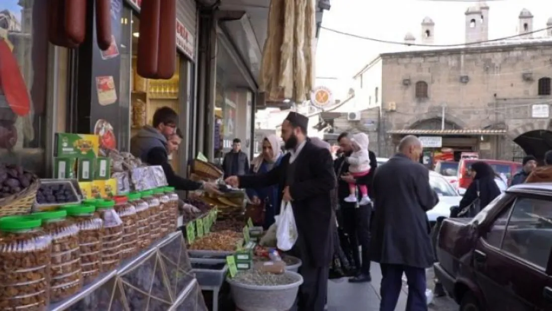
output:
[[381, 263], [380, 311], [394, 311], [402, 288], [402, 274], [407, 278], [406, 311], [427, 311], [426, 269]]

